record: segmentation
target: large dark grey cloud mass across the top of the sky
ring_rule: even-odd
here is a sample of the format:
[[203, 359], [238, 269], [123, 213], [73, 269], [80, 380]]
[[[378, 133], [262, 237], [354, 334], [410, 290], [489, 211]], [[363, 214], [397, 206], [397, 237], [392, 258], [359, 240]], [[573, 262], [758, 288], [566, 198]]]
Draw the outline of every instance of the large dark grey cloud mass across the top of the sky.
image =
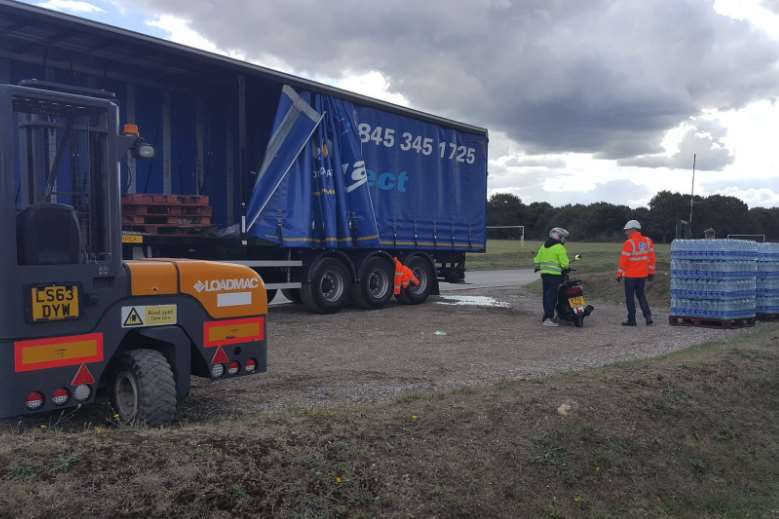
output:
[[249, 57], [327, 77], [379, 70], [415, 106], [528, 153], [657, 153], [703, 108], [779, 89], [777, 44], [711, 0], [139, 1]]

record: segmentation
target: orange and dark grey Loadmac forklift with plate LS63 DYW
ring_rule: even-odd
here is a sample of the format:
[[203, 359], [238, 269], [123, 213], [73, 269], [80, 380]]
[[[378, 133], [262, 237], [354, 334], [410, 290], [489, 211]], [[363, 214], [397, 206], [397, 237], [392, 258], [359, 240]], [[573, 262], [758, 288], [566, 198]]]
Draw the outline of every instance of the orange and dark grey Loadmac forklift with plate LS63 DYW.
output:
[[192, 375], [267, 369], [255, 271], [122, 260], [120, 161], [154, 149], [119, 121], [105, 90], [0, 85], [0, 418], [108, 398], [156, 426]]

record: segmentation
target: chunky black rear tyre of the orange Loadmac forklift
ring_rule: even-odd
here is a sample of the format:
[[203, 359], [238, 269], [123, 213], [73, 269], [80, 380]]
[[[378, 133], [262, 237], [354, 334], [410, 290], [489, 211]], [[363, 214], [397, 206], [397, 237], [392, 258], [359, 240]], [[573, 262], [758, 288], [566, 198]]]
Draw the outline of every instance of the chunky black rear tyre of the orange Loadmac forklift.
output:
[[150, 349], [124, 352], [113, 373], [111, 405], [121, 423], [157, 427], [176, 417], [176, 381], [162, 353]]

